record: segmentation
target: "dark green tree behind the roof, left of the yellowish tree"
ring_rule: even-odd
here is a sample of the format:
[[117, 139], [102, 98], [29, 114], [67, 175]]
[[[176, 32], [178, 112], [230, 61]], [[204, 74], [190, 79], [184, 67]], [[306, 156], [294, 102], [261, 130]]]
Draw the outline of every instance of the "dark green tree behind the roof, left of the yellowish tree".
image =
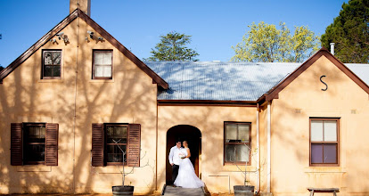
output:
[[160, 37], [160, 43], [150, 52], [152, 56], [145, 61], [199, 61], [199, 53], [186, 46], [191, 43], [191, 36], [172, 31]]

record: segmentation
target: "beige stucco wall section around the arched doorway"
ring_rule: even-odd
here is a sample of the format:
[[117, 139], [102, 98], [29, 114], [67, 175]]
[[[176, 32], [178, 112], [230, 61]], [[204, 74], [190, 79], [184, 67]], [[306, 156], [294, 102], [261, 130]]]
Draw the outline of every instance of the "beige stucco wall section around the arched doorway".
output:
[[[251, 123], [251, 148], [256, 148], [256, 107], [228, 106], [159, 106], [158, 109], [158, 185], [166, 181], [167, 132], [177, 125], [197, 127], [201, 131], [201, 180], [210, 192], [233, 192], [234, 185], [243, 184], [243, 176], [235, 166], [223, 165], [224, 122]], [[191, 148], [190, 148], [191, 149]], [[244, 168], [244, 167], [242, 167]], [[256, 158], [247, 168], [248, 180], [256, 184]], [[229, 190], [230, 189], [230, 190]]]

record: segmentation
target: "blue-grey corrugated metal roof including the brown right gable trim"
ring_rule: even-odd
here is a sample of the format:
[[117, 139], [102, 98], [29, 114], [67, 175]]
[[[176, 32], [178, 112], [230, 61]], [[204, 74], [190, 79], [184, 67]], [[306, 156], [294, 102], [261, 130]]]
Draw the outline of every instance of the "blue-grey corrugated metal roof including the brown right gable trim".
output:
[[325, 48], [304, 63], [216, 61], [145, 63], [168, 81], [170, 86], [167, 90], [158, 92], [158, 102], [252, 104], [277, 98], [285, 86], [323, 55], [369, 94], [369, 87], [366, 85], [369, 84], [369, 64], [346, 64], [348, 66], [346, 67]]

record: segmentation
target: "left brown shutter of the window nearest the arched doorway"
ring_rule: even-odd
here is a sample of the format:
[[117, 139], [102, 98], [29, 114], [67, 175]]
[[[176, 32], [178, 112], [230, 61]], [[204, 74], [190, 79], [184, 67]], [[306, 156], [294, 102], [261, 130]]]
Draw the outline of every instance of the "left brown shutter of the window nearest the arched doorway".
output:
[[94, 123], [92, 132], [92, 165], [94, 167], [103, 166], [103, 124]]

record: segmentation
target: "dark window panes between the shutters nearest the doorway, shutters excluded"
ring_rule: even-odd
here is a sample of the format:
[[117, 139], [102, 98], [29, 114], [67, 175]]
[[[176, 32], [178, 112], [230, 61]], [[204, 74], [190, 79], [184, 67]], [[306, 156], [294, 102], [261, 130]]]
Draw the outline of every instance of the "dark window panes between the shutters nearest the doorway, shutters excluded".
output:
[[127, 165], [127, 157], [123, 151], [127, 151], [127, 125], [105, 125], [105, 151], [106, 162], [108, 164], [120, 164], [125, 160]]

